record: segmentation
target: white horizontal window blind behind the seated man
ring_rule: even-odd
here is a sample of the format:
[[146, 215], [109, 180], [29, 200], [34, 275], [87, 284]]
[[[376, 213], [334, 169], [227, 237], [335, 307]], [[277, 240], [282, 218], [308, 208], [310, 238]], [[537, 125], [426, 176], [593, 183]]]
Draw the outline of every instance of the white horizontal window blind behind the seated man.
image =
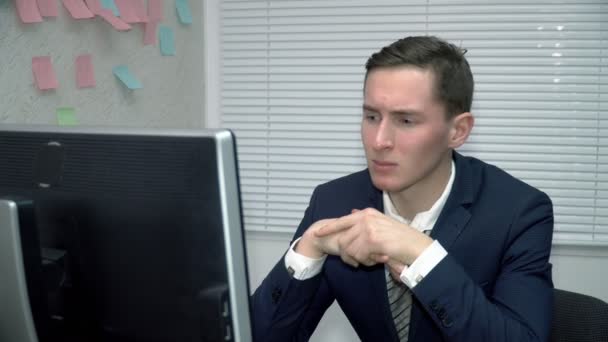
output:
[[365, 167], [365, 61], [428, 34], [468, 49], [476, 126], [461, 152], [546, 191], [555, 239], [608, 242], [605, 0], [224, 0], [220, 23], [247, 229], [293, 232], [315, 185]]

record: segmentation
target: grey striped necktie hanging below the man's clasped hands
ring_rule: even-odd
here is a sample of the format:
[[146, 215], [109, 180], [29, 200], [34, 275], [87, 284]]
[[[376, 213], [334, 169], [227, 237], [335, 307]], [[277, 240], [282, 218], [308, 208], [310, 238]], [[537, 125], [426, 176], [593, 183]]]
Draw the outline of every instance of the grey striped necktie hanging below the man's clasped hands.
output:
[[410, 332], [412, 292], [401, 281], [393, 279], [389, 272], [386, 272], [386, 288], [397, 336], [399, 336], [399, 341], [405, 342]]

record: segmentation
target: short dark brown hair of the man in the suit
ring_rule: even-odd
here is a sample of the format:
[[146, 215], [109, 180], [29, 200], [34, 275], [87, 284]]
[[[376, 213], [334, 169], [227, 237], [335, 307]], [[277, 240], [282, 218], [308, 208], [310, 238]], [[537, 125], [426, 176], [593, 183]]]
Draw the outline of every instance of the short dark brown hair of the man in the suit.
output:
[[377, 68], [414, 66], [429, 69], [434, 76], [435, 98], [444, 104], [446, 118], [470, 112], [473, 102], [473, 74], [466, 50], [433, 36], [399, 39], [371, 55], [365, 64], [365, 81]]

